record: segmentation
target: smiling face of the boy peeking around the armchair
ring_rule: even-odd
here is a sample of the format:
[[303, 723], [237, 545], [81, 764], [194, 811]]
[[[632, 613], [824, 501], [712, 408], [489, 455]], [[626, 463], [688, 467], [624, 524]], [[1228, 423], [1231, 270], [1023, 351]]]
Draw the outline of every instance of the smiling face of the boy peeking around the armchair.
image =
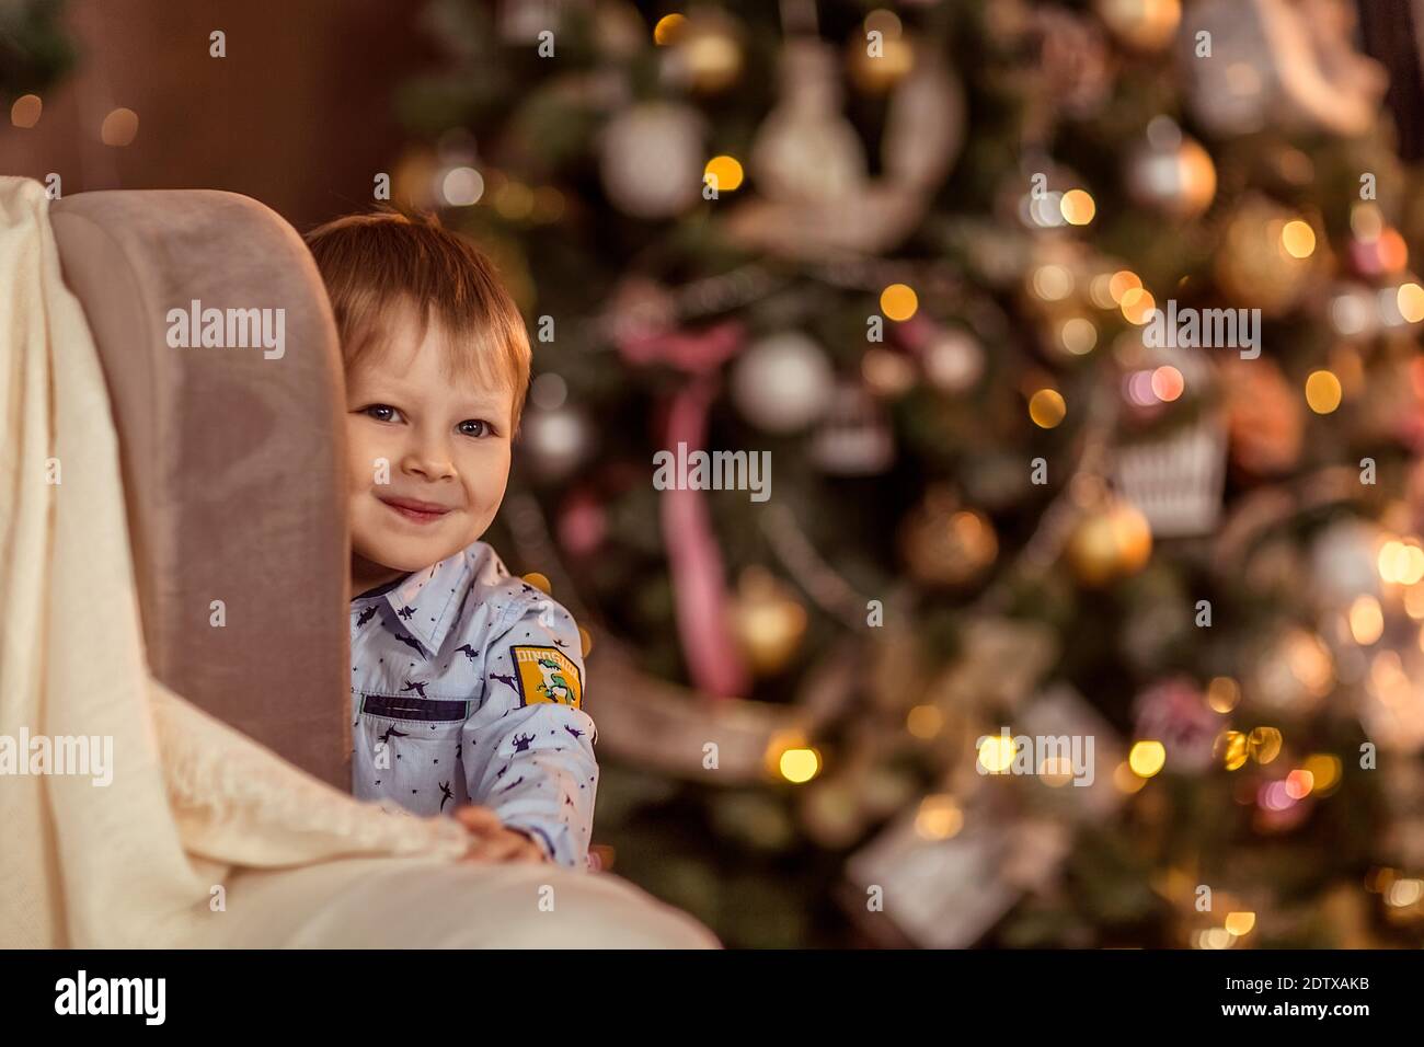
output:
[[404, 311], [390, 343], [346, 375], [352, 595], [476, 541], [510, 477], [513, 389], [451, 382], [436, 321], [419, 333]]

